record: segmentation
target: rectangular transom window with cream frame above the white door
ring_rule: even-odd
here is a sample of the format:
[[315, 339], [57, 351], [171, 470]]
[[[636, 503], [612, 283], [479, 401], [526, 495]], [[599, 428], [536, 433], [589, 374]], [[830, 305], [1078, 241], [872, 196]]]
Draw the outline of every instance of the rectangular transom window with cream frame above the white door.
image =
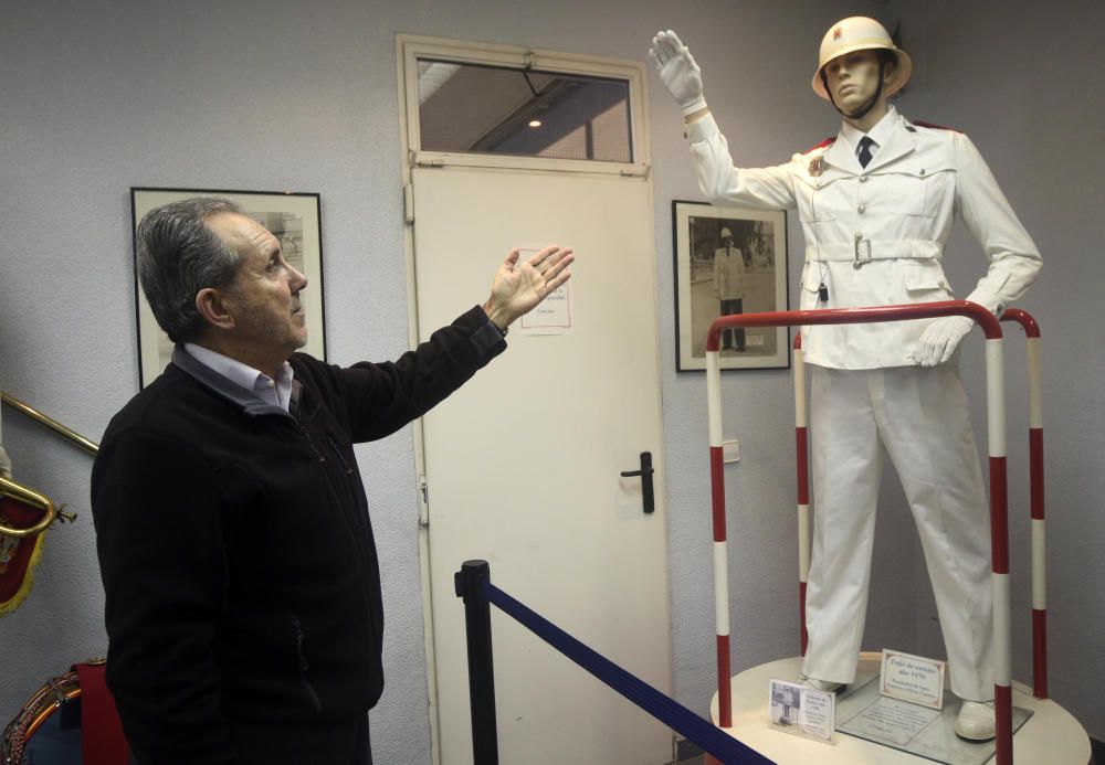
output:
[[399, 36], [412, 164], [646, 170], [643, 67]]

